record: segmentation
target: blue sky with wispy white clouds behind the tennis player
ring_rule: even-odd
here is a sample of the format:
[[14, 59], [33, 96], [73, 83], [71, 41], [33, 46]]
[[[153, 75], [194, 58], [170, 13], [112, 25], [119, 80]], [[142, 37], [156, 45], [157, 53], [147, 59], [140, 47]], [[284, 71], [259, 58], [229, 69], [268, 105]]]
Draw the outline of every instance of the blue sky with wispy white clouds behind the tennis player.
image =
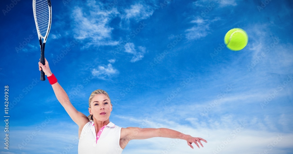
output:
[[[40, 81], [31, 1], [0, 3], [0, 81], [2, 90], [9, 86], [10, 102], [9, 150], [2, 140], [0, 154], [76, 154], [78, 127], [49, 82]], [[208, 141], [191, 149], [183, 140], [134, 140], [123, 153], [289, 154], [292, 6], [289, 0], [52, 0], [45, 57], [85, 115], [91, 92], [103, 89], [113, 103], [110, 121], [120, 127], [165, 127]], [[230, 51], [224, 36], [237, 27], [248, 44]]]

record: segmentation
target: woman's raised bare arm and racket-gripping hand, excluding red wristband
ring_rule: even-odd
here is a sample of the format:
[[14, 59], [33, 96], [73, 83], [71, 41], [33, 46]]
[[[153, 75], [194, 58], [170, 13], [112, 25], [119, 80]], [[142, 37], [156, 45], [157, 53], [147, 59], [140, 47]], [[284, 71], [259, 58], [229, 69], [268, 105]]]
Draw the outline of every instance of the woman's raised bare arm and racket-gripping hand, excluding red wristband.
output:
[[[45, 65], [42, 65], [42, 63], [39, 62], [39, 70], [43, 70], [45, 75], [47, 77], [50, 77], [52, 75], [52, 72], [49, 67], [49, 63], [45, 58]], [[88, 117], [84, 115], [83, 113], [77, 111], [74, 106], [70, 103], [69, 97], [64, 91], [64, 89], [60, 86], [58, 82], [55, 84], [52, 84], [52, 88], [54, 90], [54, 93], [57, 97], [57, 100], [61, 103], [61, 105], [64, 107], [68, 115], [71, 117], [71, 119], [80, 127], [82, 128], [87, 122], [89, 122]]]

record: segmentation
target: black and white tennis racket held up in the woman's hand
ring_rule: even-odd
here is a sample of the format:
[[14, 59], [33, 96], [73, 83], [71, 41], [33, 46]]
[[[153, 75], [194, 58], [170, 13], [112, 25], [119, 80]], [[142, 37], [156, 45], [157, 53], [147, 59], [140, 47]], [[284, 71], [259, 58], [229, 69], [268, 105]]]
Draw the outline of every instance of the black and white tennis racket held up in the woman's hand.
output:
[[[33, 0], [33, 12], [41, 48], [40, 62], [45, 65], [45, 44], [52, 20], [51, 0]], [[42, 39], [44, 39], [44, 41], [42, 41]], [[45, 81], [45, 73], [43, 70], [41, 70], [40, 79], [41, 81]]]

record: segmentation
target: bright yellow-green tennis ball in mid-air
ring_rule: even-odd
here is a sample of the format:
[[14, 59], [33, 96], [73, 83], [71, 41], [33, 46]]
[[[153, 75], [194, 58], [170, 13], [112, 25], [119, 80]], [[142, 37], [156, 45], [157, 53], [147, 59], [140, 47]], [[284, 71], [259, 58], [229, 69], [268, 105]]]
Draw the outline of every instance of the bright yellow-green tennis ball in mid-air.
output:
[[247, 45], [248, 35], [241, 28], [233, 28], [226, 33], [224, 42], [228, 49], [239, 51]]

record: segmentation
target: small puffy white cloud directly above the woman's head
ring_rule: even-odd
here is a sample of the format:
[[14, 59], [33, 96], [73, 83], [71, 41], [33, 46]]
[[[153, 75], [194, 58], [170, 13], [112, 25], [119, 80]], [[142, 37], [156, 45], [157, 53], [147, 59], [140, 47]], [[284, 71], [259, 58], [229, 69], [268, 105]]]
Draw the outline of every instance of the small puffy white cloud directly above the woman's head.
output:
[[108, 64], [107, 66], [99, 65], [98, 68], [94, 68], [91, 73], [94, 77], [99, 79], [110, 79], [114, 75], [119, 74], [119, 71], [113, 68], [112, 64]]

